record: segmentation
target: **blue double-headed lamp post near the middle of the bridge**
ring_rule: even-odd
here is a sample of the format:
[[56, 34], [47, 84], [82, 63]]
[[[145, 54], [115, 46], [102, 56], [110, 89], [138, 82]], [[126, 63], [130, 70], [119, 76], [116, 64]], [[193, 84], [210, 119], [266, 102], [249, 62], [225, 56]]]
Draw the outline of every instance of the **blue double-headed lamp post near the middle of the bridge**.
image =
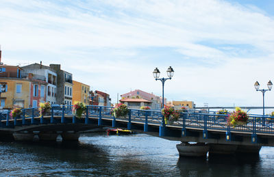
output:
[[[155, 78], [156, 81], [160, 80], [162, 81], [162, 109], [164, 108], [164, 82], [168, 79], [171, 79], [173, 77], [174, 74], [174, 70], [173, 68], [171, 68], [171, 66], [169, 66], [169, 68], [166, 70], [167, 76], [169, 78], [162, 78], [162, 79], [158, 79], [160, 77], [160, 70], [158, 70], [158, 68], [155, 68], [155, 70], [153, 70], [153, 77]], [[165, 126], [166, 124], [164, 123], [164, 115], [162, 116], [162, 123], [160, 126], [160, 131], [159, 131], [159, 135], [160, 137], [164, 136], [164, 132], [165, 132]]]

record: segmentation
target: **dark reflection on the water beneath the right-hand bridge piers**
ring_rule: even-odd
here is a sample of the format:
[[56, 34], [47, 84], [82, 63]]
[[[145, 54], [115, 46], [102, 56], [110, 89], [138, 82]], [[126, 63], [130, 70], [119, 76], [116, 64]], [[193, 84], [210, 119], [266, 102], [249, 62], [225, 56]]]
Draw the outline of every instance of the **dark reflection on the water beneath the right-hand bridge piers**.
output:
[[208, 158], [179, 157], [177, 166], [182, 176], [260, 176], [260, 156], [210, 155]]

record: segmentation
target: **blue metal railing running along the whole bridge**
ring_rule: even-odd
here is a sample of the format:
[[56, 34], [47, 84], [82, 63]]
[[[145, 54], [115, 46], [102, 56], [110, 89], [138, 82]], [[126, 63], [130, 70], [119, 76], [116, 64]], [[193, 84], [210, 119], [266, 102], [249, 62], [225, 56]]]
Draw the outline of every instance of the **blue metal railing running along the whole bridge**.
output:
[[[151, 124], [160, 125], [162, 121], [162, 113], [160, 110], [140, 110], [129, 109], [129, 114], [119, 118], [114, 118], [111, 114], [113, 107], [87, 106], [82, 118], [85, 124], [89, 124], [90, 119], [97, 119], [98, 125], [102, 125], [103, 119], [112, 120], [112, 126], [116, 126], [117, 120], [123, 120], [127, 123], [127, 127], [131, 128], [132, 122], [144, 124], [144, 131], [148, 130]], [[10, 118], [10, 111], [0, 113], [0, 126], [14, 127], [28, 124], [55, 124], [55, 123], [77, 123], [77, 119], [73, 116], [72, 105], [53, 106], [51, 111], [40, 116], [38, 108], [22, 109], [22, 114], [17, 118]], [[72, 116], [71, 120], [69, 116]], [[81, 122], [81, 121], [80, 121]], [[210, 111], [185, 111], [180, 112], [179, 120], [167, 124], [166, 126], [179, 126], [182, 130], [186, 128], [198, 128], [203, 131], [227, 131], [227, 133], [264, 133], [274, 135], [274, 117], [269, 115], [252, 115], [249, 114], [249, 122], [240, 126], [228, 126], [227, 115], [216, 114]]]

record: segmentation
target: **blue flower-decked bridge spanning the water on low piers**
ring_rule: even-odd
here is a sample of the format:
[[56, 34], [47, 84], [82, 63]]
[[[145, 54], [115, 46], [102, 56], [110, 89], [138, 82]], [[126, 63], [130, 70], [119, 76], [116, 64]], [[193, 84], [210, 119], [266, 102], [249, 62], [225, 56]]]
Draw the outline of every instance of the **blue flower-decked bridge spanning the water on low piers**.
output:
[[127, 116], [114, 118], [112, 107], [87, 106], [82, 118], [76, 118], [72, 106], [51, 107], [48, 115], [39, 116], [38, 108], [22, 109], [18, 118], [10, 111], [0, 113], [0, 137], [27, 141], [78, 140], [82, 131], [99, 127], [119, 127], [183, 143], [197, 142], [210, 146], [212, 153], [258, 153], [262, 146], [274, 146], [274, 117], [249, 115], [249, 122], [228, 126], [227, 115], [213, 111], [181, 112], [179, 120], [164, 124], [160, 110], [129, 109]]

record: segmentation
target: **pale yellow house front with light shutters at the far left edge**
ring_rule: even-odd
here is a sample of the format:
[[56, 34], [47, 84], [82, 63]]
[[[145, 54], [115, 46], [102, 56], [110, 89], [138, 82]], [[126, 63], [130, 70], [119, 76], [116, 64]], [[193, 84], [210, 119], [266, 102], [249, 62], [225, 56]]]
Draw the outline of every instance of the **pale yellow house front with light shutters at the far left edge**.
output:
[[1, 107], [12, 109], [13, 107], [29, 108], [29, 90], [31, 81], [24, 79], [10, 78], [0, 79], [1, 85], [5, 85], [5, 92], [1, 94]]

